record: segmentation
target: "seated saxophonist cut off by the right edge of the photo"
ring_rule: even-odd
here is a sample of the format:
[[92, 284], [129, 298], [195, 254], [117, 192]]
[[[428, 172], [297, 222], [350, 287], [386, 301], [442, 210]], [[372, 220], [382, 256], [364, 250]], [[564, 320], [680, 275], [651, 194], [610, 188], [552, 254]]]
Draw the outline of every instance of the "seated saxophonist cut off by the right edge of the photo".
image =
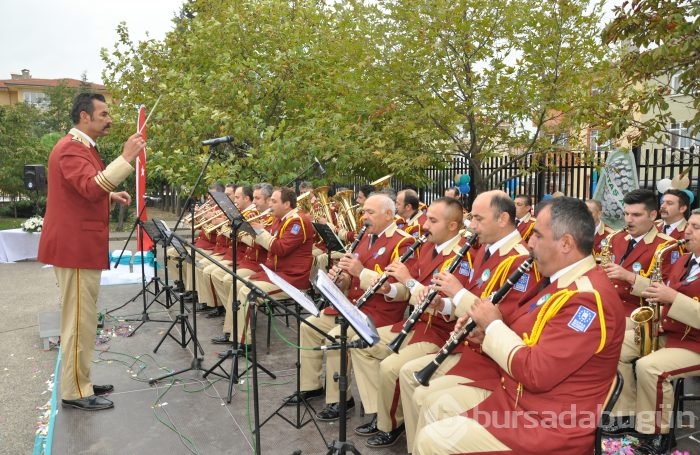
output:
[[[628, 379], [613, 409], [618, 416], [615, 430], [640, 439], [639, 453], [666, 453], [671, 381], [700, 374], [700, 209], [691, 212], [685, 238], [688, 253], [669, 266], [668, 284], [651, 283], [642, 293], [662, 308], [659, 349], [640, 357], [641, 334], [628, 330], [620, 356], [618, 369]], [[644, 334], [647, 341], [653, 330]]]

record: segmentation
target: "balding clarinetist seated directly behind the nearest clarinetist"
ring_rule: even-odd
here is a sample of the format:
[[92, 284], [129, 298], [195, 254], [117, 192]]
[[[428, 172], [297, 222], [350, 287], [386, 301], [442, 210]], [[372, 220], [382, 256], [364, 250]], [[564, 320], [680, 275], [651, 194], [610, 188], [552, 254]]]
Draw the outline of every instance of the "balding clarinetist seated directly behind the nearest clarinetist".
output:
[[[515, 205], [508, 194], [503, 191], [479, 194], [474, 200], [472, 214], [472, 228], [478, 235], [482, 247], [474, 252], [474, 264], [469, 273], [467, 285], [463, 287], [454, 275], [444, 272], [436, 274], [431, 285], [431, 288], [439, 289], [455, 302], [456, 305], [453, 308], [445, 308], [443, 301], [434, 302], [434, 306], [441, 313], [453, 317], [464, 316], [475, 300], [487, 298], [495, 292], [529, 257], [529, 251], [515, 228]], [[506, 323], [509, 322], [510, 314], [517, 309], [519, 302], [533, 291], [537, 291], [538, 281], [539, 274], [533, 270], [523, 274], [499, 303]], [[406, 442], [409, 450], [413, 446], [423, 395], [463, 383], [465, 372], [473, 371], [473, 365], [476, 363], [489, 364], [494, 374], [497, 366], [490, 358], [480, 353], [478, 345], [474, 350], [457, 348], [432, 375], [430, 387], [419, 387], [413, 378], [413, 373], [426, 366], [434, 357], [435, 354], [431, 353], [407, 362], [401, 368], [401, 403], [406, 420]], [[442, 377], [443, 375], [447, 376]]]

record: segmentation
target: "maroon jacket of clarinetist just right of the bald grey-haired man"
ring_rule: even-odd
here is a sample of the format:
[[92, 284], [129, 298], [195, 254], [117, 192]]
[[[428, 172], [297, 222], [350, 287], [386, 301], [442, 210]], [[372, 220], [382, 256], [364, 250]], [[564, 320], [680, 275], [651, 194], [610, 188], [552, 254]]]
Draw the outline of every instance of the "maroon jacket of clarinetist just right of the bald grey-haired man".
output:
[[[452, 258], [455, 257], [456, 252], [459, 251], [461, 245], [465, 242], [464, 238], [460, 238], [452, 248], [448, 246], [441, 253], [433, 257], [433, 252], [435, 250], [435, 244], [430, 242], [423, 245], [418, 250], [418, 257], [410, 260], [406, 263], [411, 276], [423, 286], [429, 286], [433, 278], [433, 274], [445, 270]], [[467, 253], [469, 254], [469, 253]], [[455, 276], [459, 279], [462, 286], [467, 284], [469, 279], [469, 262], [471, 256], [462, 259], [460, 265], [455, 269]], [[442, 296], [444, 297], [444, 296]], [[438, 294], [435, 298], [441, 298], [441, 294]], [[420, 302], [418, 302], [420, 303]], [[429, 342], [442, 346], [442, 344], [449, 338], [450, 332], [454, 328], [454, 320], [447, 320], [441, 314], [426, 314], [423, 313], [418, 321], [416, 321], [413, 326], [413, 335], [408, 344], [419, 343], [419, 342]], [[403, 322], [394, 324], [391, 327], [391, 331], [398, 333], [403, 328]]]

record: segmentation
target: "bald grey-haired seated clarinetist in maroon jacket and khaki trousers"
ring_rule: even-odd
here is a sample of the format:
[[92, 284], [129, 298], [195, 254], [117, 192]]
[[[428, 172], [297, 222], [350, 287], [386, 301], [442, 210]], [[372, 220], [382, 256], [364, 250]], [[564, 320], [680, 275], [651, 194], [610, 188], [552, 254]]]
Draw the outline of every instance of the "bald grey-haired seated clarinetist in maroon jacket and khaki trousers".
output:
[[[394, 223], [394, 202], [386, 195], [373, 194], [367, 198], [364, 204], [365, 223], [367, 230], [360, 239], [360, 243], [353, 253], [346, 253], [339, 264], [331, 270], [331, 276], [340, 274], [339, 285], [346, 288], [347, 296], [354, 301], [364, 294], [369, 279], [374, 276], [376, 268], [385, 269], [397, 257], [400, 257], [406, 248], [411, 246], [414, 239], [403, 231], [400, 231]], [[364, 288], [360, 283], [364, 283]], [[375, 324], [391, 324], [400, 321], [406, 309], [405, 302], [387, 302], [380, 295], [372, 296], [362, 306], [362, 311], [370, 316]], [[340, 327], [336, 323], [338, 312], [333, 308], [326, 308], [318, 317], [311, 316], [309, 323], [321, 329], [323, 332], [335, 337], [340, 333]], [[352, 329], [349, 335], [354, 335]], [[327, 343], [325, 337], [307, 324], [301, 326], [301, 346], [304, 348], [318, 347]], [[330, 350], [326, 353], [326, 407], [318, 413], [320, 420], [331, 421], [339, 417], [338, 383], [333, 380], [333, 373], [340, 370], [340, 351]], [[323, 352], [303, 349], [301, 357], [301, 398], [311, 399], [323, 395], [321, 382], [321, 369], [323, 366]], [[350, 376], [351, 365], [348, 365]], [[348, 385], [348, 393], [350, 393]], [[348, 395], [347, 409], [354, 407], [352, 395]], [[296, 404], [298, 397], [292, 395], [285, 399], [287, 404]]]

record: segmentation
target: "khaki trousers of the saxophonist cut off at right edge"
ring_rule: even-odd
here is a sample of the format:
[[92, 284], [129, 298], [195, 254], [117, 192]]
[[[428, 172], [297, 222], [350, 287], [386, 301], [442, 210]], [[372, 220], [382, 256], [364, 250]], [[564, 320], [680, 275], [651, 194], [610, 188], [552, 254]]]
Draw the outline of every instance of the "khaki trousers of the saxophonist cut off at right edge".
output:
[[617, 365], [625, 382], [612, 413], [616, 416], [635, 415], [635, 429], [640, 433], [668, 433], [673, 411], [671, 381], [697, 376], [700, 372], [700, 354], [688, 349], [666, 348], [665, 345], [666, 337], [659, 337], [660, 349], [640, 358], [634, 330], [625, 332]]

